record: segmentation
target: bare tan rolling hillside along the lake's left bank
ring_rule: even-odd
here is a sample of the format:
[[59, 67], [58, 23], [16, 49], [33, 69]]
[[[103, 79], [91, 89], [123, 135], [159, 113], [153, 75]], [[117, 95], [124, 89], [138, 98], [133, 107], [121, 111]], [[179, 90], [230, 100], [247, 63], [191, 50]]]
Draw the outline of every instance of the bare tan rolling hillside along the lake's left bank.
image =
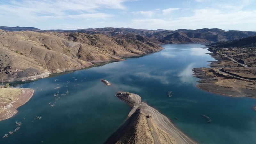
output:
[[122, 60], [156, 52], [152, 42], [113, 38], [102, 34], [0, 31], [0, 79], [32, 80], [50, 73], [76, 70], [94, 62]]

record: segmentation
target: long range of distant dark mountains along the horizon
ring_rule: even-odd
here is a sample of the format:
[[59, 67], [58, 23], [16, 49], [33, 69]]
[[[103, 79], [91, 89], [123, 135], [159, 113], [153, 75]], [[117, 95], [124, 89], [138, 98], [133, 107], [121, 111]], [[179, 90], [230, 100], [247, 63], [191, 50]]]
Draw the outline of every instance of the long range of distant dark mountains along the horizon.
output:
[[[41, 31], [38, 28], [28, 27], [0, 27], [0, 29], [10, 30], [10, 31], [21, 31], [21, 30], [32, 30], [32, 31]], [[120, 37], [128, 35], [144, 36], [143, 41], [153, 41], [158, 44], [172, 44], [172, 43], [214, 43], [220, 41], [231, 41], [240, 38], [245, 38], [248, 36], [256, 36], [255, 31], [238, 31], [238, 30], [222, 30], [219, 28], [203, 28], [203, 29], [178, 29], [178, 30], [147, 30], [147, 29], [134, 29], [134, 28], [87, 28], [87, 29], [77, 29], [77, 30], [43, 30], [41, 32], [77, 32], [85, 34], [103, 34], [106, 36]], [[138, 37], [137, 40], [142, 37]], [[127, 38], [127, 36], [126, 36]]]

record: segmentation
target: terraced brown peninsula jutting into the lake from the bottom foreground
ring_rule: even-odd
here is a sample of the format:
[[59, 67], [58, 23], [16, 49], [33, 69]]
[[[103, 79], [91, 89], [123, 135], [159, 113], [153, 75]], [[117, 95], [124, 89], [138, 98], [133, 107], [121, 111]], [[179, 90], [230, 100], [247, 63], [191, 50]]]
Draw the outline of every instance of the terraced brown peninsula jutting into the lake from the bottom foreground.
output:
[[118, 92], [116, 96], [132, 109], [128, 120], [107, 141], [107, 144], [122, 143], [196, 143], [156, 109], [141, 102], [137, 94]]

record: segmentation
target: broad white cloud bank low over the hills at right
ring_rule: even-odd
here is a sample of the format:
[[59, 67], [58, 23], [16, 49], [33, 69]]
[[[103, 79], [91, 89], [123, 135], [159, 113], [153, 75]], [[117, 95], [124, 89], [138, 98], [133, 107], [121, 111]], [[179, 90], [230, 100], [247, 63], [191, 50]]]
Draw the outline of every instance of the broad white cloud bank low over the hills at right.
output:
[[256, 24], [256, 10], [223, 12], [219, 9], [205, 8], [193, 10], [194, 15], [176, 19], [133, 19], [134, 28], [225, 28], [236, 24]]

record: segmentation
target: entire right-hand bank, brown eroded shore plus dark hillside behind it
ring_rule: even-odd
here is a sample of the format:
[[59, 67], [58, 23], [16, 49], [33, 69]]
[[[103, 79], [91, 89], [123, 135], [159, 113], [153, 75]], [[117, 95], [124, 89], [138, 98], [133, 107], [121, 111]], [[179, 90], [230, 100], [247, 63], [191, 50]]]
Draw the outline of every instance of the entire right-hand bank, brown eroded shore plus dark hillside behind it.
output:
[[211, 68], [194, 68], [197, 87], [233, 97], [256, 98], [256, 36], [209, 44]]

